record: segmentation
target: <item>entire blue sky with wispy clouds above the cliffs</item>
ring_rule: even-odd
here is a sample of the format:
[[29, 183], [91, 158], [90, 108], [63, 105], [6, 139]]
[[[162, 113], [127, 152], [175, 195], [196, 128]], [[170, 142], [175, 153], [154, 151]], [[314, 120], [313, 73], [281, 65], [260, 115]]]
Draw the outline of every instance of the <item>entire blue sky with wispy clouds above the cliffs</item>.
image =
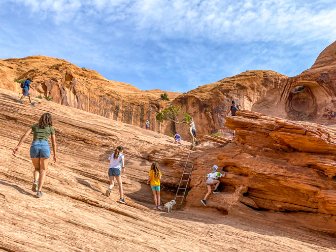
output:
[[46, 55], [142, 90], [294, 76], [336, 40], [334, 0], [1, 0], [0, 58]]

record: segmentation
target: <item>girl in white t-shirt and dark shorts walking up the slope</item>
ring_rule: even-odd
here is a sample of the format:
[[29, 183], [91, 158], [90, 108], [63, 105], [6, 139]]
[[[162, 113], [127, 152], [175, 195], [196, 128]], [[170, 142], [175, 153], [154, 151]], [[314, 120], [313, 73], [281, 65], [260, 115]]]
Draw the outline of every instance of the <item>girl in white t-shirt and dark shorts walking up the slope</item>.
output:
[[119, 202], [126, 204], [124, 201], [123, 193], [122, 193], [122, 181], [121, 181], [121, 169], [122, 172], [125, 172], [125, 156], [122, 154], [124, 151], [124, 147], [119, 145], [114, 153], [110, 155], [109, 161], [110, 161], [110, 168], [109, 168], [109, 179], [110, 179], [110, 186], [108, 190], [106, 190], [105, 195], [107, 197], [110, 197], [111, 189], [114, 186], [114, 177], [116, 177], [116, 180], [118, 182], [119, 186], [119, 193], [120, 193], [120, 199]]

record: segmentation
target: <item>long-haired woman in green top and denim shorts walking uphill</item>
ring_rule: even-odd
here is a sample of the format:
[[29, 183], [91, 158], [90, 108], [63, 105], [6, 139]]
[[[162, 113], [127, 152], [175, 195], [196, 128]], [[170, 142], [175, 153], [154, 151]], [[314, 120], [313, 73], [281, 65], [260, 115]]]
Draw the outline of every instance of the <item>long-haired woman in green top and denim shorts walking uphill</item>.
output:
[[54, 152], [54, 163], [56, 162], [56, 139], [55, 130], [52, 128], [52, 116], [44, 113], [37, 124], [30, 127], [22, 136], [20, 142], [13, 150], [14, 154], [18, 151], [20, 145], [26, 137], [33, 132], [33, 140], [30, 146], [30, 159], [35, 167], [34, 182], [31, 191], [37, 193], [36, 197], [40, 198], [42, 194], [42, 186], [46, 177], [46, 171], [50, 159], [49, 136], [51, 135], [52, 150]]

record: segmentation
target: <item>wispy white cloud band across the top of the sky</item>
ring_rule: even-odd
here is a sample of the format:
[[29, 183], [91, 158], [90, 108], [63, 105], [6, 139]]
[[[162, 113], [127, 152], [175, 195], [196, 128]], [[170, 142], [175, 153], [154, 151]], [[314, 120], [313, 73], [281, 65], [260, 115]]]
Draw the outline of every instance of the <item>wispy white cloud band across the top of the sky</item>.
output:
[[[4, 0], [56, 23], [123, 20], [135, 30], [171, 38], [301, 44], [336, 38], [333, 1], [292, 0]], [[1, 6], [1, 4], [0, 4]]]

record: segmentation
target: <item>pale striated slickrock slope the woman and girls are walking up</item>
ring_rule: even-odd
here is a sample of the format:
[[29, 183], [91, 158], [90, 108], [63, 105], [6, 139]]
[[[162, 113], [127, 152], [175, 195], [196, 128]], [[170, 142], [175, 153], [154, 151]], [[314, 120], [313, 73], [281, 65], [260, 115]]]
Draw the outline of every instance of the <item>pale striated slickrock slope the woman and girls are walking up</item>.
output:
[[[237, 217], [230, 210], [225, 215], [199, 203], [199, 208], [160, 216], [151, 210], [152, 192], [144, 183], [151, 160], [160, 163], [162, 184], [176, 186], [182, 169], [177, 163], [183, 164], [186, 148], [164, 135], [56, 103], [19, 105], [18, 97], [0, 89], [1, 251], [335, 251], [333, 237], [299, 228], [303, 225], [293, 219], [288, 222], [285, 214], [250, 209], [251, 213]], [[12, 150], [44, 112], [54, 116], [58, 161], [49, 165], [44, 196], [37, 199], [30, 191], [32, 137], [16, 156]], [[228, 143], [205, 136], [203, 150], [193, 152], [192, 159]], [[116, 202], [117, 185], [110, 198], [104, 195], [106, 159], [119, 144], [125, 147], [122, 179], [128, 205]], [[173, 198], [166, 189], [162, 196], [164, 202]]]

